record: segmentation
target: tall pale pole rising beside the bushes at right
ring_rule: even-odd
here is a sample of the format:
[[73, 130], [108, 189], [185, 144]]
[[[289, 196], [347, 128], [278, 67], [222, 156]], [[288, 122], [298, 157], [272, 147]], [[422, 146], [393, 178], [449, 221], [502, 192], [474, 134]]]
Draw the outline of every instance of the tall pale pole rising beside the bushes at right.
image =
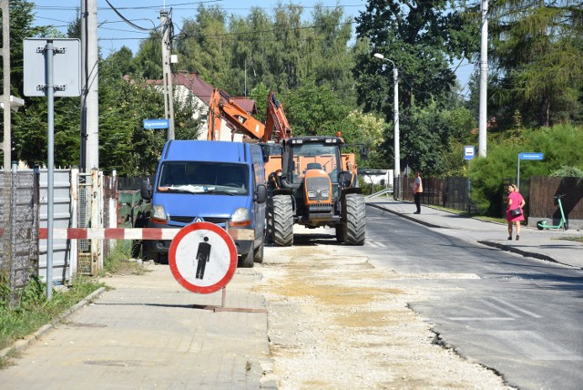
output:
[[486, 157], [487, 85], [488, 85], [488, 0], [482, 0], [482, 36], [480, 46], [480, 118], [478, 156]]

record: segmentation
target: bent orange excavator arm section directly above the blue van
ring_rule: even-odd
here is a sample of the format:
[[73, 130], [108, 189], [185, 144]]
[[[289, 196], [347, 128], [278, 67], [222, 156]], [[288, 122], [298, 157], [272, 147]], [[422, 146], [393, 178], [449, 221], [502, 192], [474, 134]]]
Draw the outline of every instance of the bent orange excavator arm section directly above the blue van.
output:
[[209, 101], [207, 139], [220, 139], [220, 118], [225, 118], [231, 128], [252, 139], [263, 139], [265, 136], [265, 125], [235, 103], [227, 93], [215, 88]]

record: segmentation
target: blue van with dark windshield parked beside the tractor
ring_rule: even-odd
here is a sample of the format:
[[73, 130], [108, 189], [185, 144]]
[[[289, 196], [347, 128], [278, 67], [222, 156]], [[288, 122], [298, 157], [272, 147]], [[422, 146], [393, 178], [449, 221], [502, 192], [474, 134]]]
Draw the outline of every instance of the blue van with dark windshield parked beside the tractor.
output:
[[[142, 198], [151, 199], [149, 228], [182, 228], [207, 221], [227, 229], [240, 265], [263, 262], [265, 168], [259, 145], [246, 142], [170, 140], [164, 146], [153, 183], [144, 181]], [[171, 241], [144, 241], [145, 256], [159, 262]]]

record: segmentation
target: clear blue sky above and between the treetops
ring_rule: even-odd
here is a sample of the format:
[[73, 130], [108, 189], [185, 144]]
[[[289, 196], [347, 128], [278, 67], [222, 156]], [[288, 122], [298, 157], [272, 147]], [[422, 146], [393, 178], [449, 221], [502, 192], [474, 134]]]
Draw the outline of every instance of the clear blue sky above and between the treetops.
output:
[[[80, 8], [81, 0], [30, 0], [36, 4], [35, 13], [36, 25], [56, 26], [59, 31], [66, 33], [66, 27], [77, 17], [77, 9]], [[196, 10], [200, 4], [205, 6], [220, 5], [228, 14], [245, 16], [249, 14], [251, 7], [260, 6], [271, 15], [272, 9], [278, 1], [272, 0], [108, 0], [109, 4], [115, 6], [121, 15], [124, 15], [133, 24], [151, 28], [159, 26], [160, 10], [166, 7], [171, 10], [171, 17], [176, 26], [182, 26], [182, 21], [188, 17], [195, 17]], [[55, 5], [55, 4], [58, 5]], [[281, 1], [282, 4], [289, 4], [290, 1]], [[310, 18], [312, 8], [316, 4], [322, 6], [341, 6], [344, 15], [358, 16], [366, 8], [365, 0], [293, 0], [292, 4], [302, 5], [304, 8], [303, 15]], [[175, 29], [175, 31], [179, 31]], [[125, 23], [112, 9], [107, 5], [106, 0], [97, 0], [97, 36], [99, 46], [103, 56], [117, 51], [121, 46], [128, 46], [132, 53], [138, 52], [139, 42], [148, 37], [148, 31], [142, 31], [136, 27], [129, 26]], [[452, 69], [457, 67], [457, 63]], [[463, 62], [455, 69], [455, 74], [459, 78], [462, 87], [467, 85], [467, 81], [474, 69], [472, 64]], [[466, 88], [464, 88], [466, 89]]]

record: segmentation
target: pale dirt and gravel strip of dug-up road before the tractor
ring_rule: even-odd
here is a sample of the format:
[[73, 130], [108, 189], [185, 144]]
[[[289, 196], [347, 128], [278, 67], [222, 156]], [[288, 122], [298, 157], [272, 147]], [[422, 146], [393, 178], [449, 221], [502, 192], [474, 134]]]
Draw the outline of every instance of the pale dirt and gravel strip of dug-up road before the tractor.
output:
[[266, 248], [254, 290], [268, 302], [279, 388], [506, 388], [491, 370], [434, 343], [430, 325], [407, 307], [427, 297], [392, 285], [403, 275], [345, 252]]

